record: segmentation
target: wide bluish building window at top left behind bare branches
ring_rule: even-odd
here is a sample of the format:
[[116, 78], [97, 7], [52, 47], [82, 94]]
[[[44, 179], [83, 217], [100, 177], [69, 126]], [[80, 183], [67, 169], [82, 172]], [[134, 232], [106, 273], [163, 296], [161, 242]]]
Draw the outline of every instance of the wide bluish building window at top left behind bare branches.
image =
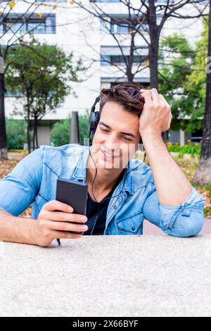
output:
[[0, 32], [7, 33], [27, 33], [34, 34], [55, 34], [56, 15], [43, 14], [40, 18], [37, 14], [24, 16], [24, 14], [8, 15], [1, 19]]

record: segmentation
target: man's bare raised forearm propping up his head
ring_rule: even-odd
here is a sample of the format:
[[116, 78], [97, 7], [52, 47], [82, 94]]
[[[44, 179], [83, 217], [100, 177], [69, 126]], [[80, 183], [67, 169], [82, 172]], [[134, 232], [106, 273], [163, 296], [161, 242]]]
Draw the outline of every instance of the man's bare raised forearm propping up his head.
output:
[[141, 137], [159, 201], [170, 206], [183, 204], [191, 193], [191, 183], [170, 155], [160, 135], [151, 133]]

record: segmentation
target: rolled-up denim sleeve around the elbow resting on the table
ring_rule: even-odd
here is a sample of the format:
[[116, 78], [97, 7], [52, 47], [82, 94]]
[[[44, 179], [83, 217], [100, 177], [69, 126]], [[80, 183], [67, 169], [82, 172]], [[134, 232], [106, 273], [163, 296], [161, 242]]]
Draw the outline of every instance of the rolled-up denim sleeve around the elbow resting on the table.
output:
[[154, 183], [151, 183], [151, 187], [151, 194], [143, 205], [146, 220], [175, 237], [191, 237], [200, 232], [205, 222], [205, 199], [194, 187], [186, 201], [179, 206], [161, 204]]

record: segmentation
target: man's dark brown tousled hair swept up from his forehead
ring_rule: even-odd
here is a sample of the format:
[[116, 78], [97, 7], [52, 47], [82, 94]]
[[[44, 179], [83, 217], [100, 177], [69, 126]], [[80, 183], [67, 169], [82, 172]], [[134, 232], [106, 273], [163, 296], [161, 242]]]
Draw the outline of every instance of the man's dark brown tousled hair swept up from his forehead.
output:
[[144, 104], [140, 89], [140, 85], [133, 82], [123, 82], [110, 89], [101, 89], [100, 114], [106, 102], [113, 101], [123, 106], [125, 111], [136, 113], [140, 117]]

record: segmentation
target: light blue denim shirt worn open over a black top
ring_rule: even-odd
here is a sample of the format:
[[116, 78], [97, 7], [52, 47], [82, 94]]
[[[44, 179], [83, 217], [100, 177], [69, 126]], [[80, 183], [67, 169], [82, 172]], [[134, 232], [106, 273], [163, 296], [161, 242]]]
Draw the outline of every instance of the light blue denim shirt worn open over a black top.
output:
[[[58, 177], [86, 181], [88, 156], [88, 146], [40, 146], [0, 181], [0, 209], [20, 216], [32, 204], [32, 218], [37, 219], [42, 206], [56, 199]], [[136, 170], [132, 170], [134, 168]], [[124, 182], [126, 173], [129, 174]], [[159, 202], [148, 165], [133, 159], [126, 173], [113, 196], [122, 192], [109, 201], [104, 235], [142, 235], [145, 218], [176, 237], [190, 237], [200, 232], [205, 220], [205, 199], [196, 189], [192, 187], [191, 194], [180, 206], [169, 206]]]

